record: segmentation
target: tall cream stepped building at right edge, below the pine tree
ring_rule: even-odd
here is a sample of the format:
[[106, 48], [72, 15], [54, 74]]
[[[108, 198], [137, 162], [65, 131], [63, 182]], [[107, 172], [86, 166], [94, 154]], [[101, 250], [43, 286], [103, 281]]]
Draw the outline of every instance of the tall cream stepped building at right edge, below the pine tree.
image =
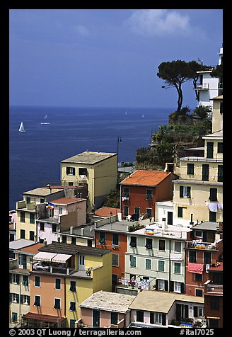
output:
[[[219, 125], [222, 127], [219, 103], [221, 105], [222, 96], [214, 99], [212, 130]], [[223, 130], [216, 130], [202, 139], [204, 157], [180, 158], [180, 178], [173, 181], [175, 222], [185, 226], [197, 221], [223, 221]]]

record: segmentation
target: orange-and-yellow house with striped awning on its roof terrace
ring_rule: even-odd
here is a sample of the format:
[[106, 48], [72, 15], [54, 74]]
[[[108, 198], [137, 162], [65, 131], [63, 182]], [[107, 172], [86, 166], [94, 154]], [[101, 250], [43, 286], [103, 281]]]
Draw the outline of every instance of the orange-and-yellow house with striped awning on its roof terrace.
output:
[[[40, 297], [40, 314], [56, 316], [54, 302], [59, 299], [59, 316], [68, 327], [74, 327], [81, 318], [79, 304], [83, 300], [98, 290], [112, 290], [110, 249], [53, 242], [40, 248], [33, 262], [30, 281], [33, 284], [38, 276], [40, 287], [33, 287], [31, 296]], [[30, 312], [37, 319], [35, 306], [30, 307]]]

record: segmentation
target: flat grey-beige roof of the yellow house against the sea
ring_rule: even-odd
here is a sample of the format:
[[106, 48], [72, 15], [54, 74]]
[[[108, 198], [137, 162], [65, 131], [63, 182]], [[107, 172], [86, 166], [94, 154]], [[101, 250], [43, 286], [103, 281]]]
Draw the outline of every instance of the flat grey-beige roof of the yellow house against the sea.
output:
[[64, 159], [61, 161], [61, 163], [96, 164], [99, 161], [103, 161], [116, 155], [117, 153], [86, 151], [82, 152], [81, 154], [76, 154], [75, 156]]

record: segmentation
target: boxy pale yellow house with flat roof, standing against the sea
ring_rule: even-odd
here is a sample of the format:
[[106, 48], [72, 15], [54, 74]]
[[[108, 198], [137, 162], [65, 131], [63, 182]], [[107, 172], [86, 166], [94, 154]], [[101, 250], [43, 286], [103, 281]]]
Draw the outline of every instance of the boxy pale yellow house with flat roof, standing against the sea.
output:
[[62, 185], [88, 185], [87, 210], [103, 205], [117, 185], [117, 154], [82, 152], [61, 162]]

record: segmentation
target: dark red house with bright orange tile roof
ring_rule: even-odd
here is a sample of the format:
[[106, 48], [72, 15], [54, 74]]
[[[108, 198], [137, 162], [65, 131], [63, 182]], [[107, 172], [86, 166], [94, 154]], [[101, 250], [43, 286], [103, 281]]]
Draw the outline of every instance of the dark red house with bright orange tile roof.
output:
[[156, 201], [170, 200], [173, 197], [173, 179], [171, 172], [137, 170], [120, 183], [122, 218], [134, 215], [152, 218], [156, 215]]

